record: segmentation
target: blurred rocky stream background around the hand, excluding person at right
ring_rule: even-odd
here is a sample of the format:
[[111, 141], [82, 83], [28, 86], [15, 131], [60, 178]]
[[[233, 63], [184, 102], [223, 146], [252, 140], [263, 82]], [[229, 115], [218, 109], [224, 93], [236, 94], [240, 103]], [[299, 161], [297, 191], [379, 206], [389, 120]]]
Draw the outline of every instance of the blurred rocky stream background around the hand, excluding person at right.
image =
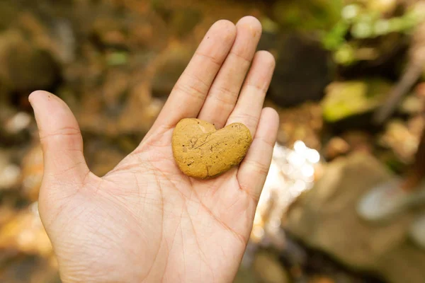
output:
[[28, 94], [68, 103], [103, 175], [145, 135], [210, 25], [246, 15], [276, 57], [266, 105], [280, 130], [235, 282], [425, 282], [425, 250], [408, 236], [424, 209], [380, 226], [356, 213], [407, 171], [424, 127], [425, 3], [414, 0], [1, 0], [0, 282], [60, 282], [38, 217]]

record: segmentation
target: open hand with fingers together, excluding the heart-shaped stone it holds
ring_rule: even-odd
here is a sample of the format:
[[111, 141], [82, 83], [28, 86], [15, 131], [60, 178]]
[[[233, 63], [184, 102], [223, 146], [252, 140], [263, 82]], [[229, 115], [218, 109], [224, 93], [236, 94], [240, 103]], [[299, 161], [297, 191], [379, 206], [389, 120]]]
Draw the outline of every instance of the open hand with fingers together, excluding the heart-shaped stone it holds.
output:
[[[101, 178], [67, 105], [31, 93], [45, 163], [39, 211], [63, 282], [232, 282], [278, 130], [276, 111], [263, 109], [275, 61], [255, 51], [260, 35], [253, 17], [212, 25], [152, 129]], [[254, 140], [239, 167], [183, 175], [171, 136], [184, 117], [246, 125]]]

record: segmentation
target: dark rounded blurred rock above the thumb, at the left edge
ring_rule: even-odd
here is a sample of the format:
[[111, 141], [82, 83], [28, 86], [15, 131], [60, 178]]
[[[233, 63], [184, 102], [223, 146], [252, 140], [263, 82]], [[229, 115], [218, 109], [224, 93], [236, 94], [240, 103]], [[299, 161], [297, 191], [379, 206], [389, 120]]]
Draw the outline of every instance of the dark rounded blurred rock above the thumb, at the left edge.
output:
[[58, 70], [49, 52], [31, 45], [17, 30], [0, 35], [0, 82], [9, 91], [49, 89], [59, 78]]

